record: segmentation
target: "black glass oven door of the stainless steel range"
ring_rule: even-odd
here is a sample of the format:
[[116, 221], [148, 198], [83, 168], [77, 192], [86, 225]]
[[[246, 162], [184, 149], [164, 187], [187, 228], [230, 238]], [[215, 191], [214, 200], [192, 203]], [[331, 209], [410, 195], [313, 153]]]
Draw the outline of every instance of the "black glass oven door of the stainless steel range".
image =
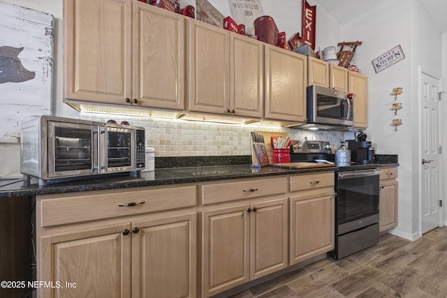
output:
[[379, 170], [338, 172], [336, 234], [379, 221]]

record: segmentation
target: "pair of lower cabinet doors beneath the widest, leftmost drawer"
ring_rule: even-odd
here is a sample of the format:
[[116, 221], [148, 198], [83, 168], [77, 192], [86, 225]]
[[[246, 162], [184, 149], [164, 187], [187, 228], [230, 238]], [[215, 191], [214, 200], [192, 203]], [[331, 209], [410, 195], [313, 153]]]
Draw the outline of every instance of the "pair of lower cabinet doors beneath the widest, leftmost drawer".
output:
[[45, 236], [41, 297], [196, 297], [195, 235], [191, 213]]

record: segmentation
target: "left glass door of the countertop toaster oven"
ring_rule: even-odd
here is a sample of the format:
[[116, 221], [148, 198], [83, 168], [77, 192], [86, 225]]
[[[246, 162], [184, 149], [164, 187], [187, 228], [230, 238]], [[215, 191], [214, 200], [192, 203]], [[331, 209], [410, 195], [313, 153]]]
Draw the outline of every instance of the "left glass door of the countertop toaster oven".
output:
[[98, 126], [49, 121], [47, 177], [73, 177], [97, 172], [97, 132]]

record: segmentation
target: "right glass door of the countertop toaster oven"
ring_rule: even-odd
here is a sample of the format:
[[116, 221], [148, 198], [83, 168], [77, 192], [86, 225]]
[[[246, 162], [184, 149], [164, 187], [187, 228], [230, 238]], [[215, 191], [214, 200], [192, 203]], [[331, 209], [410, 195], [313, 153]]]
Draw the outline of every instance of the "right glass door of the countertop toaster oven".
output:
[[101, 140], [101, 172], [127, 172], [135, 170], [135, 130], [103, 127]]

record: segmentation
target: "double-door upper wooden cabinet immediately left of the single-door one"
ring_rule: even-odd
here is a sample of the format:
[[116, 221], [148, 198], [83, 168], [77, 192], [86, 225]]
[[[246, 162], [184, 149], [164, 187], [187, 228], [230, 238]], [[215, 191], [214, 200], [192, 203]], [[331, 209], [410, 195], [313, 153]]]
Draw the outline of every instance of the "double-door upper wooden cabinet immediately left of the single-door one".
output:
[[189, 21], [189, 110], [263, 116], [263, 43]]

